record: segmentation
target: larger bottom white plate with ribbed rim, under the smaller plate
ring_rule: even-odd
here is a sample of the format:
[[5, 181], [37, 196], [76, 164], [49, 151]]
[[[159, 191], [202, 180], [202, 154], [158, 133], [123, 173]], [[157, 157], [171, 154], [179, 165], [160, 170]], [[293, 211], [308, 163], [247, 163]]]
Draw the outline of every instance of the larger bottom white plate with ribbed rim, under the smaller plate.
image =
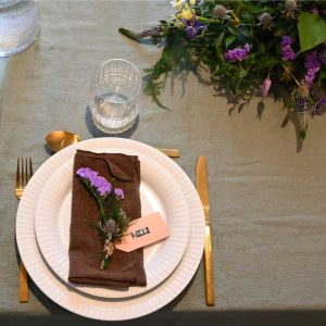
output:
[[[100, 299], [87, 296], [67, 286], [52, 273], [38, 249], [35, 236], [35, 212], [41, 192], [53, 166], [72, 159], [76, 149], [129, 149], [148, 154], [158, 164], [178, 171], [176, 181], [185, 191], [190, 218], [190, 235], [185, 254], [175, 271], [152, 290], [125, 299]], [[199, 196], [188, 176], [171, 159], [155, 149], [134, 140], [97, 138], [68, 147], [46, 161], [28, 183], [20, 202], [16, 217], [16, 240], [22, 260], [38, 288], [52, 301], [66, 310], [96, 319], [123, 321], [150, 314], [175, 299], [193, 277], [200, 263], [204, 243], [204, 215]]]

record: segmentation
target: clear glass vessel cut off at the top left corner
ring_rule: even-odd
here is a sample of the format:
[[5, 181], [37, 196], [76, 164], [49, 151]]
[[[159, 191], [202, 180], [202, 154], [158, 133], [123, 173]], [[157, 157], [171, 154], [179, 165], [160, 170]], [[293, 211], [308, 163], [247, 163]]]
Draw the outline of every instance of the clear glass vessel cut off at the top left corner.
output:
[[0, 0], [0, 57], [20, 53], [32, 46], [40, 30], [35, 0]]

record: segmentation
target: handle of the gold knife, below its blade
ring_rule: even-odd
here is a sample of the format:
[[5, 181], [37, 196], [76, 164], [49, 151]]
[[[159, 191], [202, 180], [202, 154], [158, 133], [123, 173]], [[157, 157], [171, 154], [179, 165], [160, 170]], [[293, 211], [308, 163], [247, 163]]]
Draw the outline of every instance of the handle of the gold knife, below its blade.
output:
[[211, 240], [211, 227], [209, 225], [205, 226], [204, 269], [205, 269], [204, 272], [205, 272], [206, 305], [215, 305], [212, 240]]

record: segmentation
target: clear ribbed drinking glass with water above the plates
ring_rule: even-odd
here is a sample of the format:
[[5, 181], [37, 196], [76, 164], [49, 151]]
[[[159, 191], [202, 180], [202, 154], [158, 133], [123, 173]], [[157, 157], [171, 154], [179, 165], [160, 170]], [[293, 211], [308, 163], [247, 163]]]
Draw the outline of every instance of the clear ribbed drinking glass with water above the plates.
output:
[[142, 78], [139, 68], [123, 59], [103, 62], [90, 83], [89, 109], [95, 125], [108, 134], [133, 126], [138, 115]]

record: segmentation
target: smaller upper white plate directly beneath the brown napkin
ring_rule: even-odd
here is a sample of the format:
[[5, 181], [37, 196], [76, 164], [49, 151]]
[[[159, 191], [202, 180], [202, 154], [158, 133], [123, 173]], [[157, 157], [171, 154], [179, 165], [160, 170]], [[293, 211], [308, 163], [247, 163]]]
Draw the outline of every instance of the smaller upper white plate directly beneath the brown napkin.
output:
[[39, 195], [35, 215], [37, 242], [47, 263], [70, 286], [102, 298], [140, 294], [164, 280], [177, 266], [186, 250], [190, 223], [184, 191], [174, 179], [176, 172], [166, 170], [147, 154], [118, 148], [101, 149], [96, 152], [138, 155], [142, 216], [159, 211], [167, 223], [170, 237], [145, 249], [147, 286], [120, 289], [68, 281], [73, 159], [57, 170], [52, 168], [53, 173]]

